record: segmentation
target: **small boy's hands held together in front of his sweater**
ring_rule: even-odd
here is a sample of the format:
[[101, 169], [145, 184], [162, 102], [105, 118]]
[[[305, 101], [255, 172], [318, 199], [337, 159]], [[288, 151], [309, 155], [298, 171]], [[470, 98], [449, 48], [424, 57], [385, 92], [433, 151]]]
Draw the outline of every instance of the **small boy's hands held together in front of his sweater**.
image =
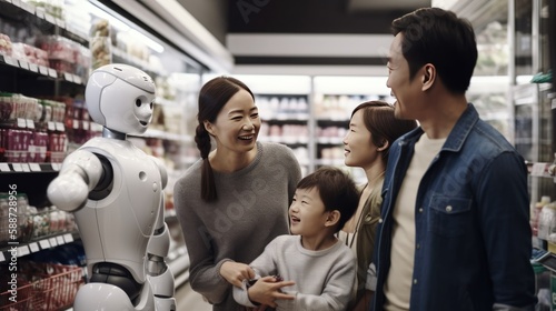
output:
[[249, 300], [251, 302], [258, 302], [261, 304], [270, 305], [276, 308], [277, 304], [275, 300], [286, 299], [294, 300], [296, 297], [292, 294], [286, 294], [280, 291], [281, 288], [291, 287], [296, 282], [294, 281], [280, 281], [277, 282], [275, 277], [260, 278], [252, 287], [247, 291]]

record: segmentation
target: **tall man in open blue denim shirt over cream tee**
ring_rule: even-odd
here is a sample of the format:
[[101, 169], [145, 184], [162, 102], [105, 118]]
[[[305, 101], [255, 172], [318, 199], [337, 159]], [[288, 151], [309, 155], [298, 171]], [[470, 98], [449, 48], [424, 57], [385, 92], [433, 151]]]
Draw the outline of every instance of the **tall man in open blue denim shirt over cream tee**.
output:
[[373, 310], [534, 310], [527, 169], [466, 100], [471, 26], [428, 8], [393, 31], [395, 113], [420, 127], [390, 149]]

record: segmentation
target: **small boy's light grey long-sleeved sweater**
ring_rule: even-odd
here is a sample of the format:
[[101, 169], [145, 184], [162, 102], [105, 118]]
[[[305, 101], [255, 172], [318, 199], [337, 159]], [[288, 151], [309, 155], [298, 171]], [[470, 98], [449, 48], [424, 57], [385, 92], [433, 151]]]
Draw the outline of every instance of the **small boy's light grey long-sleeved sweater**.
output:
[[[281, 289], [295, 299], [276, 300], [277, 311], [344, 311], [351, 299], [356, 260], [341, 241], [311, 251], [301, 245], [301, 237], [281, 235], [250, 265], [260, 277], [280, 274], [285, 281], [296, 282]], [[245, 288], [235, 288], [234, 297], [244, 305], [255, 307]]]

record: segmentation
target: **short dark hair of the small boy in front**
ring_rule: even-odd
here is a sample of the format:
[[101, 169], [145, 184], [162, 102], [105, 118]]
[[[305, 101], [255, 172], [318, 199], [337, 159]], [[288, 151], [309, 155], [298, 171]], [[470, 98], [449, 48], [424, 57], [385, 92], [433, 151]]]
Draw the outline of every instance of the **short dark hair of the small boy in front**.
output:
[[317, 189], [325, 204], [325, 211], [338, 210], [340, 212], [335, 232], [344, 228], [359, 204], [359, 191], [354, 180], [338, 168], [319, 168], [301, 179], [297, 189]]

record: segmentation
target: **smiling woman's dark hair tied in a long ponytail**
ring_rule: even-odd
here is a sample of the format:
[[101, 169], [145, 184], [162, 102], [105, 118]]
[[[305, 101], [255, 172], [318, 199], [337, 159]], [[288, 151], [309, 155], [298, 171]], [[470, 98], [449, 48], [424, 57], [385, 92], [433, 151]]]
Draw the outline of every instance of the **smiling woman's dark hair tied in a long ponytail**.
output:
[[197, 114], [199, 124], [195, 130], [195, 142], [202, 159], [201, 198], [206, 202], [216, 201], [218, 195], [215, 185], [215, 174], [208, 160], [211, 146], [209, 132], [205, 128], [205, 121], [214, 123], [222, 107], [241, 89], [249, 92], [255, 100], [251, 90], [244, 82], [231, 77], [214, 78], [205, 83], [199, 91], [199, 113]]

